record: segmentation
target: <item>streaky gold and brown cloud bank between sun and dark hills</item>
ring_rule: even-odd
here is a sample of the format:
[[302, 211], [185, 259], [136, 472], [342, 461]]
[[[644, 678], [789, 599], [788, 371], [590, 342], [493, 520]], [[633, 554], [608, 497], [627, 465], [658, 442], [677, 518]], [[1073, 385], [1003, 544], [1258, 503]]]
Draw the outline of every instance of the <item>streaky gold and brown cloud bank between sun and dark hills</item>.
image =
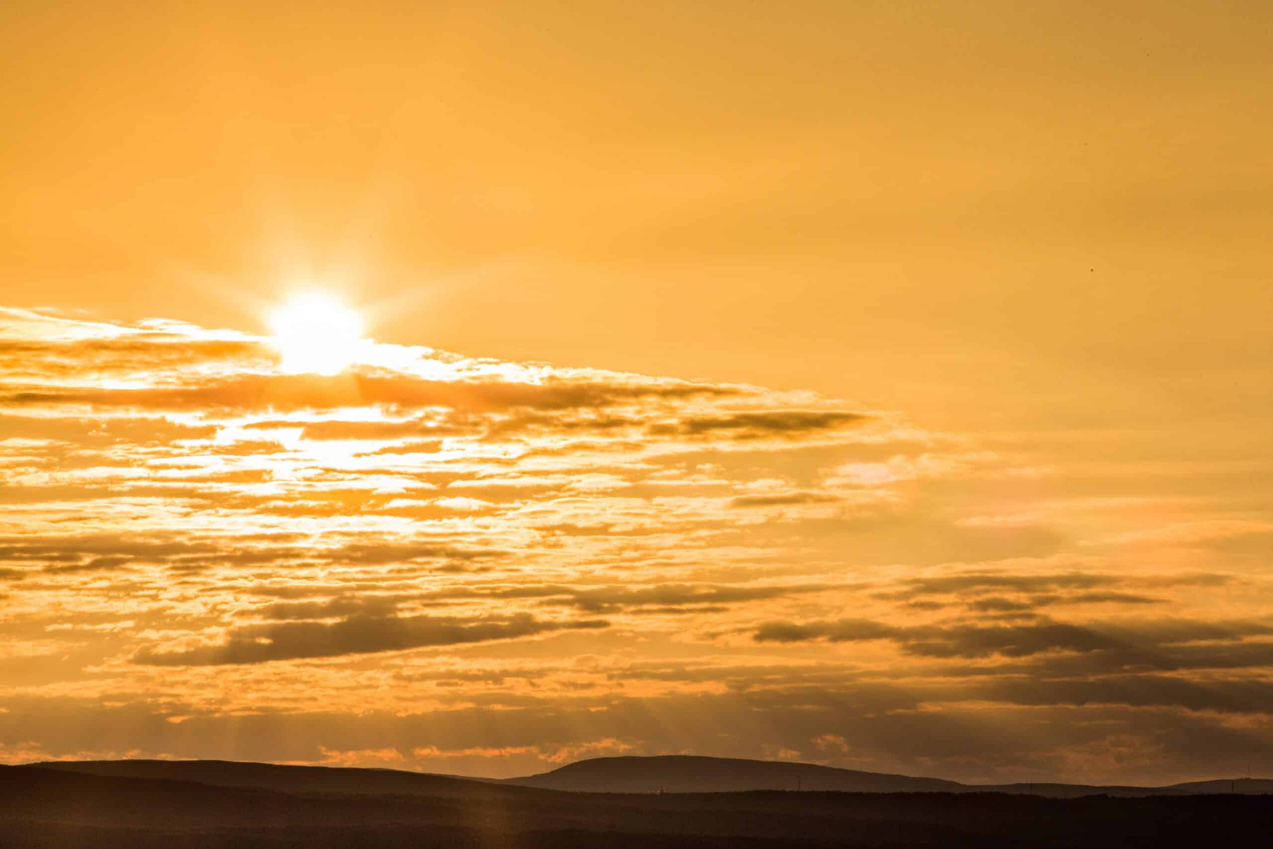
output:
[[1060, 443], [0, 311], [0, 755], [1273, 770], [1267, 508]]

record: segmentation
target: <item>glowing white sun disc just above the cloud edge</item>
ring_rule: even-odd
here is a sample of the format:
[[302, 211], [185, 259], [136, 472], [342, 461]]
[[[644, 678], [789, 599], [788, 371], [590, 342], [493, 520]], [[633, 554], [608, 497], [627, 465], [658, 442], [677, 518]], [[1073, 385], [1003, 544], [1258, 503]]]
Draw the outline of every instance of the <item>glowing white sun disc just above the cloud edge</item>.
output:
[[363, 319], [321, 291], [293, 298], [270, 316], [283, 369], [294, 374], [340, 374], [364, 346]]

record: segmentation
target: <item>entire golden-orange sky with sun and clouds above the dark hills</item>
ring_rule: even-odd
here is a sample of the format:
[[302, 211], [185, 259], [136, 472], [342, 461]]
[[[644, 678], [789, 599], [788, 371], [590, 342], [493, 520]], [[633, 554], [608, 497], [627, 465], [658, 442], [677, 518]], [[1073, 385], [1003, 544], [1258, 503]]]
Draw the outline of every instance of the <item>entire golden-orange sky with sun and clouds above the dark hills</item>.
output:
[[3, 18], [0, 760], [1273, 771], [1273, 5]]

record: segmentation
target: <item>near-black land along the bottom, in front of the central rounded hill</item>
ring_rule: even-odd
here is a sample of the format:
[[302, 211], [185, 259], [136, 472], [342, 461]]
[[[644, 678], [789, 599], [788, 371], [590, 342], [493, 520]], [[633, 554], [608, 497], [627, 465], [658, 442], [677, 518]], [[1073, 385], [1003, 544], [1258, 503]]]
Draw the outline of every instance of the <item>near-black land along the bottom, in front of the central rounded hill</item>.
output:
[[[657, 764], [648, 761], [657, 760], [602, 759], [560, 773], [596, 774], [624, 761], [649, 773]], [[729, 765], [695, 760], [672, 765]], [[1269, 829], [1269, 799], [1241, 793], [1045, 798], [962, 788], [658, 796], [225, 761], [0, 768], [0, 845], [6, 846], [1197, 846], [1259, 845]]]

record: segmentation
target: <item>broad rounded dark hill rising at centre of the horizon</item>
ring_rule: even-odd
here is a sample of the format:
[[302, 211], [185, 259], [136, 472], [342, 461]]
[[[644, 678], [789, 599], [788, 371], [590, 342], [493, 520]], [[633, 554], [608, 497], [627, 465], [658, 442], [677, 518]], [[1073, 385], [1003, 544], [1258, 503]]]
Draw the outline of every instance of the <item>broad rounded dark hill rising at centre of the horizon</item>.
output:
[[838, 790], [841, 793], [941, 793], [966, 789], [956, 782], [834, 766], [738, 757], [662, 755], [593, 757], [551, 773], [505, 779], [504, 784], [575, 793], [731, 793], [738, 790]]

